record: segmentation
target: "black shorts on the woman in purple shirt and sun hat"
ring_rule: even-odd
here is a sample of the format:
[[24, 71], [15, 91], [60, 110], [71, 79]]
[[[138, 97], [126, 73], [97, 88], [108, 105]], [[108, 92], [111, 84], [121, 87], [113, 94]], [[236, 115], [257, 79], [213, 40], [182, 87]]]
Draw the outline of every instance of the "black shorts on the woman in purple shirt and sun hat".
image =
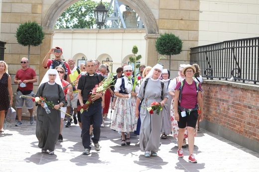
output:
[[177, 123], [179, 128], [185, 128], [186, 124], [188, 127], [195, 128], [197, 119], [198, 119], [198, 110], [193, 110], [190, 112], [190, 114], [189, 112], [186, 111], [185, 117], [182, 117], [181, 110], [179, 110], [178, 114], [179, 114], [179, 121], [177, 121]]

